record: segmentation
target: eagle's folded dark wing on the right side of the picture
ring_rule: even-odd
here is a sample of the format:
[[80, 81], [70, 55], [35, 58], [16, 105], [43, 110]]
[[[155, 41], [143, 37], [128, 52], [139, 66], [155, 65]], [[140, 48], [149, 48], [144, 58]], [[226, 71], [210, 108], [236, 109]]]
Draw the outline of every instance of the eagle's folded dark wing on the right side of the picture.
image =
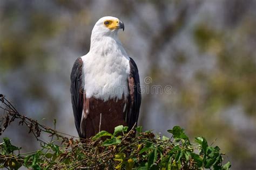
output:
[[140, 93], [140, 83], [139, 83], [139, 71], [136, 63], [130, 58], [130, 75], [128, 77], [129, 84], [129, 108], [126, 114], [126, 121], [129, 129], [133, 125], [138, 123], [139, 118], [139, 108], [142, 101], [142, 94]]

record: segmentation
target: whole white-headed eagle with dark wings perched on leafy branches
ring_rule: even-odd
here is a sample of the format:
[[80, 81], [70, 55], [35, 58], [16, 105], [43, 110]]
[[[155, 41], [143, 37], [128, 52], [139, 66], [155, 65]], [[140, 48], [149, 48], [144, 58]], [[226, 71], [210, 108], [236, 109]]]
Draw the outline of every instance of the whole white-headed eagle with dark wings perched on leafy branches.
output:
[[136, 126], [141, 103], [139, 73], [127, 55], [116, 17], [100, 18], [92, 29], [90, 51], [80, 56], [71, 71], [71, 101], [80, 138], [99, 130], [113, 133], [118, 125]]

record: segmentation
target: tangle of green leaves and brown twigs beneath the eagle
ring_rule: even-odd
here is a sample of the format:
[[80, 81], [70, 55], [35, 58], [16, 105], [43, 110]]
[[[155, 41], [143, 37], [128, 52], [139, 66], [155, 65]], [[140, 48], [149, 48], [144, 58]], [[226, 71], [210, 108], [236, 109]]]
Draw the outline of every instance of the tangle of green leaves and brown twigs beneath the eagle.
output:
[[[2, 118], [1, 133], [11, 122], [19, 121], [26, 125], [41, 144], [41, 149], [30, 153], [21, 153], [21, 148], [11, 144], [9, 138], [3, 138], [0, 144], [0, 166], [18, 169], [21, 166], [33, 169], [229, 169], [230, 162], [223, 165], [224, 153], [218, 146], [208, 145], [203, 137], [197, 137], [192, 144], [184, 130], [179, 126], [167, 130], [170, 138], [155, 136], [151, 131], [142, 131], [142, 127], [117, 126], [114, 133], [100, 131], [90, 139], [65, 137], [63, 133], [47, 128], [37, 121], [25, 117], [0, 96], [5, 109]], [[56, 125], [56, 121], [54, 122]], [[137, 134], [135, 132], [137, 131]], [[41, 133], [48, 133], [51, 141], [41, 140]], [[61, 141], [61, 144], [59, 143]]]

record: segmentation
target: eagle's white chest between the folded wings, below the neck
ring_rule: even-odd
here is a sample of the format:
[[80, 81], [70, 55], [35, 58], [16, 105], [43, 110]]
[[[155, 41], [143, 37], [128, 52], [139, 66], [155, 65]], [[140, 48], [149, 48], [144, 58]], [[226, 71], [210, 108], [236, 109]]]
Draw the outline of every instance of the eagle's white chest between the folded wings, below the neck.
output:
[[82, 59], [86, 98], [95, 97], [106, 101], [127, 96], [129, 59], [120, 54], [97, 56], [90, 52]]

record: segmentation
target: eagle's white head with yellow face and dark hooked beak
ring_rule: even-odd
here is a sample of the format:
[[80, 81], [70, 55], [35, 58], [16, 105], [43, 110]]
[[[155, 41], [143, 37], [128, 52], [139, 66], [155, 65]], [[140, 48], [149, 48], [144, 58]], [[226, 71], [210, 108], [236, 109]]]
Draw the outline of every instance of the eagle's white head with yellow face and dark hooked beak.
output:
[[105, 35], [117, 34], [119, 29], [124, 31], [124, 23], [116, 17], [102, 17], [93, 27], [92, 34], [100, 33]]

